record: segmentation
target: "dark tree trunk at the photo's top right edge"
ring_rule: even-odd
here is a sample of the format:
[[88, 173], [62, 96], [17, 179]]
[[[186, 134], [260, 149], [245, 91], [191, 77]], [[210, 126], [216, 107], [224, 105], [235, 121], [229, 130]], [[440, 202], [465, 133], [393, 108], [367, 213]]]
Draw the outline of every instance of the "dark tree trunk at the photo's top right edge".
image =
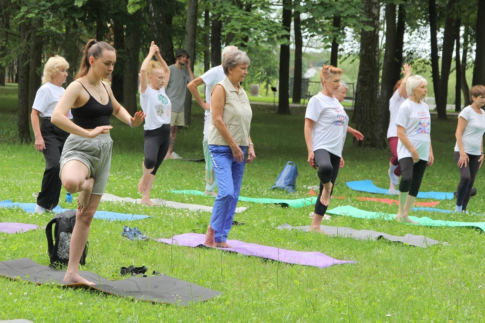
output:
[[485, 0], [478, 0], [477, 10], [477, 43], [475, 50], [475, 66], [471, 85], [485, 84]]

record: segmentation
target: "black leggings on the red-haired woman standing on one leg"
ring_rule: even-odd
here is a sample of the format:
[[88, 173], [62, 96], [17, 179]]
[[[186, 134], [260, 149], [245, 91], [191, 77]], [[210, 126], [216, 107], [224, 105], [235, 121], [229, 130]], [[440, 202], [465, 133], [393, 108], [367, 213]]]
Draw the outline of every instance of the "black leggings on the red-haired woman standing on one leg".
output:
[[330, 195], [332, 195], [333, 185], [335, 184], [337, 175], [339, 175], [340, 157], [327, 152], [325, 149], [317, 149], [313, 153], [315, 154], [315, 164], [318, 166], [318, 177], [320, 178], [320, 193], [317, 196], [314, 212], [317, 215], [323, 216], [327, 211], [327, 206], [320, 202], [323, 192], [323, 184], [332, 182], [332, 190], [330, 191]]

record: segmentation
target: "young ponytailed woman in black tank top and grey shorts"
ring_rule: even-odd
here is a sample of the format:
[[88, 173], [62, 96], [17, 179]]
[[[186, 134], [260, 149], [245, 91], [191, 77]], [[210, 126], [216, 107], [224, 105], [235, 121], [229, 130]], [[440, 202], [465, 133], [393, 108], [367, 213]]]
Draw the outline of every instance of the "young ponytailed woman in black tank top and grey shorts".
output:
[[[76, 142], [76, 145], [65, 145], [61, 156], [62, 184], [69, 193], [79, 192], [76, 225], [71, 236], [69, 264], [64, 281], [95, 284], [79, 275], [78, 265], [108, 179], [112, 140], [107, 134], [113, 128], [110, 116], [113, 114], [132, 127], [142, 124], [145, 118], [143, 111], [136, 112], [132, 118], [116, 101], [110, 86], [102, 81], [113, 72], [115, 61], [113, 46], [91, 39], [84, 48], [76, 82], [69, 84], [51, 117], [52, 123], [71, 133], [66, 143], [69, 140]], [[71, 107], [72, 121], [65, 116]], [[107, 149], [106, 153], [98, 151], [100, 148], [97, 147], [106, 147], [103, 148]], [[91, 163], [93, 154], [104, 156], [104, 162]], [[106, 165], [107, 170], [99, 169], [106, 168]]]

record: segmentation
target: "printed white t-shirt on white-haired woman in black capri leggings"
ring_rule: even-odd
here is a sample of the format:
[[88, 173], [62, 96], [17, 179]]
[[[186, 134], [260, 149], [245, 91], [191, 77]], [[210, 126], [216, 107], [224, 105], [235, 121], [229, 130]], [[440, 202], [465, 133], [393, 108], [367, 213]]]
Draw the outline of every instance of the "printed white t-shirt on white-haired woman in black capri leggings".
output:
[[[424, 101], [420, 104], [406, 99], [399, 108], [396, 126], [404, 127], [404, 133], [418, 152], [420, 159], [428, 161], [431, 146], [431, 115], [429, 107]], [[401, 140], [397, 142], [398, 159], [411, 157], [411, 153], [404, 147]]]

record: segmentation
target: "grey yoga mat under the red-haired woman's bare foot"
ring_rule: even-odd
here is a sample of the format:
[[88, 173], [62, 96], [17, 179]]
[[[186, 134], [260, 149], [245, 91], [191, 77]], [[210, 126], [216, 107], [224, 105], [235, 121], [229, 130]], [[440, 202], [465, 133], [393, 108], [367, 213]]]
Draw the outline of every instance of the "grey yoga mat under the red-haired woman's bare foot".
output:
[[[310, 226], [302, 226], [302, 227], [293, 227], [288, 223], [282, 224], [277, 229], [297, 229], [301, 231], [310, 231]], [[414, 235], [407, 233], [406, 235], [400, 237], [397, 235], [390, 235], [383, 232], [377, 232], [372, 230], [355, 230], [352, 228], [345, 228], [345, 227], [330, 227], [330, 226], [320, 226], [323, 232], [329, 233], [331, 236], [340, 236], [344, 238], [353, 238], [356, 240], [379, 240], [379, 239], [387, 239], [392, 242], [402, 242], [403, 244], [410, 245], [410, 246], [417, 246], [421, 248], [426, 248], [427, 246], [433, 246], [436, 244], [448, 244], [447, 242], [441, 242], [438, 240], [434, 240], [424, 235]]]

